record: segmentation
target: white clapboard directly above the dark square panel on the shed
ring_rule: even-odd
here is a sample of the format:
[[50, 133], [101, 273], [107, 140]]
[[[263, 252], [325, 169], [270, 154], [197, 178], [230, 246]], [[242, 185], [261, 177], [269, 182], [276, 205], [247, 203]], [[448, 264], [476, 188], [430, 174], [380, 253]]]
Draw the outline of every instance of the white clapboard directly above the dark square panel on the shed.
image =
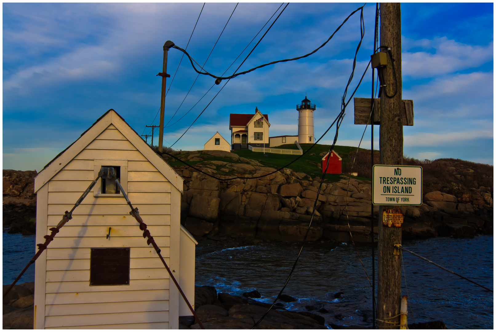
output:
[[[170, 236], [155, 236], [155, 242], [159, 248], [170, 246]], [[146, 244], [146, 238], [142, 236], [126, 236], [126, 237], [59, 237], [50, 242], [51, 248], [105, 248], [105, 247], [150, 247], [151, 244]]]

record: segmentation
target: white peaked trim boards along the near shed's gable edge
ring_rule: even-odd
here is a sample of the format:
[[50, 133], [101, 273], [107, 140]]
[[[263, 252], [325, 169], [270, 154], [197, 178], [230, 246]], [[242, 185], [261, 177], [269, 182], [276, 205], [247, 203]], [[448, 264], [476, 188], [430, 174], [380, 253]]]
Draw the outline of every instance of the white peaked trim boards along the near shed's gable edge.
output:
[[36, 193], [59, 171], [62, 170], [78, 153], [84, 150], [93, 140], [100, 135], [107, 127], [113, 124], [124, 137], [155, 166], [165, 178], [172, 183], [180, 192], [183, 192], [184, 179], [176, 173], [148, 144], [131, 128], [124, 118], [113, 109], [106, 111], [88, 129], [86, 129], [77, 140], [70, 144], [65, 150], [58, 154], [38, 173], [35, 178], [34, 192]]

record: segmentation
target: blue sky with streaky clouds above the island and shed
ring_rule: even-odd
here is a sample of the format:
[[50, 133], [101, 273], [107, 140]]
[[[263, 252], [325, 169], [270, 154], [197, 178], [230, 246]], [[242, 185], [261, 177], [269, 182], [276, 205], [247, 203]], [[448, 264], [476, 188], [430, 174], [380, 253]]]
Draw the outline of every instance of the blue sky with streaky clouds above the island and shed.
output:
[[[156, 74], [162, 71], [165, 41], [187, 45], [203, 65], [218, 39], [204, 68], [221, 75], [280, 5], [207, 2], [198, 19], [203, 3], [3, 3], [3, 169], [40, 171], [109, 109], [140, 135], [150, 134], [145, 125], [159, 124]], [[290, 3], [240, 71], [313, 51], [361, 5]], [[493, 9], [493, 3], [401, 4], [402, 99], [414, 101], [415, 114], [414, 126], [403, 127], [404, 155], [493, 165]], [[365, 5], [365, 37], [348, 98], [372, 54], [374, 12], [375, 3]], [[203, 149], [216, 131], [230, 141], [229, 114], [254, 113], [255, 107], [268, 114], [270, 136], [295, 135], [296, 105], [305, 96], [316, 104], [315, 137], [320, 137], [340, 111], [360, 41], [359, 14], [315, 54], [230, 80], [173, 148]], [[181, 57], [176, 49], [168, 53], [165, 146], [186, 131], [226, 82], [214, 85], [213, 78], [200, 75], [192, 85], [197, 74]], [[371, 84], [369, 69], [355, 97], [370, 98]], [[358, 146], [365, 125], [355, 125], [353, 117], [351, 101], [338, 145]], [[376, 125], [375, 149], [378, 133]], [[333, 127], [320, 143], [332, 143], [334, 134]], [[370, 126], [361, 147], [371, 147]]]

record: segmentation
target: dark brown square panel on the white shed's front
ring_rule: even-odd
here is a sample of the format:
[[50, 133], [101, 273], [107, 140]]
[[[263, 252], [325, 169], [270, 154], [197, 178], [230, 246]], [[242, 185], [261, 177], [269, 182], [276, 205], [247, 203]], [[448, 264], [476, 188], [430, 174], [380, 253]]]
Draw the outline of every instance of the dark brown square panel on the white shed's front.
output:
[[90, 286], [129, 284], [131, 248], [91, 248]]

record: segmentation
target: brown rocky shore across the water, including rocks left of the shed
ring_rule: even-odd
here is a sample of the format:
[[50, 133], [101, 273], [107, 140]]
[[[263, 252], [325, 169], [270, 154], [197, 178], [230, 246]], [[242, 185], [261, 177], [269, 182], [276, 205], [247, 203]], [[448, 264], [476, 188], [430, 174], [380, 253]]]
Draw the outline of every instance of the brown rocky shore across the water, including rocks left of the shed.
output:
[[[371, 182], [340, 175], [322, 185], [319, 177], [262, 165], [262, 160], [225, 151], [178, 151], [181, 165], [164, 154], [184, 179], [181, 223], [197, 238], [259, 238], [300, 241], [316, 211], [308, 239], [370, 242]], [[261, 154], [253, 153], [253, 156]], [[411, 164], [411, 160], [406, 160]], [[403, 206], [403, 238], [474, 236], [493, 233], [493, 166], [460, 160], [424, 164], [424, 204]], [[436, 175], [437, 174], [437, 175]], [[36, 172], [3, 170], [3, 226], [9, 232], [35, 232]], [[258, 179], [250, 177], [262, 176]], [[479, 186], [484, 184], [485, 186]], [[378, 207], [374, 207], [377, 220]]]

